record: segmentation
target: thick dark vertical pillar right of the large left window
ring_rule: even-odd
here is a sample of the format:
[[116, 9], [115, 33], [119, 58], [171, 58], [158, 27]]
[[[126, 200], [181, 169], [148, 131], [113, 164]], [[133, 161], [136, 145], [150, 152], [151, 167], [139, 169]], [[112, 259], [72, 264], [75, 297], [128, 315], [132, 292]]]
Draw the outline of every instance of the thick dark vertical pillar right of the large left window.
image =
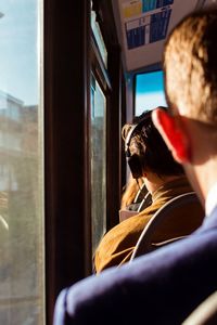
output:
[[91, 273], [90, 1], [79, 1], [76, 13], [71, 1], [44, 1], [43, 18], [46, 297], [52, 324], [60, 290]]

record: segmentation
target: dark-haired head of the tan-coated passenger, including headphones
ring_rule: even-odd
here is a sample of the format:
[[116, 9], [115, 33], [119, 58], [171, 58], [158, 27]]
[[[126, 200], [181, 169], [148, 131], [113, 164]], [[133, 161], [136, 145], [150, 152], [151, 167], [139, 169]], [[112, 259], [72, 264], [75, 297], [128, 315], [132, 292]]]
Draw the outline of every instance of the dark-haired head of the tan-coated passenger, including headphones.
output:
[[135, 125], [125, 125], [123, 138], [127, 142], [126, 154], [135, 178], [142, 177], [148, 171], [156, 173], [159, 178], [183, 173], [181, 165], [174, 160], [171, 153], [154, 127], [150, 110], [137, 117], [136, 127]]

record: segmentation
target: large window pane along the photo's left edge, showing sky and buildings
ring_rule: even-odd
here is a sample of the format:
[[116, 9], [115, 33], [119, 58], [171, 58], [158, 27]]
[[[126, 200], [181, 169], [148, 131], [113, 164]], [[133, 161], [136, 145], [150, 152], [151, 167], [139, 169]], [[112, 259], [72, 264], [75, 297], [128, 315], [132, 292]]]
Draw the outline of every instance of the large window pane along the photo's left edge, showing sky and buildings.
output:
[[5, 325], [44, 324], [40, 3], [0, 4], [0, 324]]

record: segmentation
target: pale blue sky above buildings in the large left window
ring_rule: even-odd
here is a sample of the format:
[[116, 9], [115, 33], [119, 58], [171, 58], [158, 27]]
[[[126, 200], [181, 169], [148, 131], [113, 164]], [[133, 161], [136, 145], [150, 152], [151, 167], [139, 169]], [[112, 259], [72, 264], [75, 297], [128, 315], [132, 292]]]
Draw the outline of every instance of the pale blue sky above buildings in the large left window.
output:
[[38, 103], [38, 0], [1, 0], [0, 90]]

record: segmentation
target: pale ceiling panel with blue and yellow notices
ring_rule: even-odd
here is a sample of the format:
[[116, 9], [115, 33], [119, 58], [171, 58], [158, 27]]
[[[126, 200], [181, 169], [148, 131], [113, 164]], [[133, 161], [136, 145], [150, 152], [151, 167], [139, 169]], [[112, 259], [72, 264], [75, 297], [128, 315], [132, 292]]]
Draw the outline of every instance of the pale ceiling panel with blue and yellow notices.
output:
[[168, 32], [204, 2], [210, 4], [216, 0], [113, 0], [126, 72], [159, 63]]

